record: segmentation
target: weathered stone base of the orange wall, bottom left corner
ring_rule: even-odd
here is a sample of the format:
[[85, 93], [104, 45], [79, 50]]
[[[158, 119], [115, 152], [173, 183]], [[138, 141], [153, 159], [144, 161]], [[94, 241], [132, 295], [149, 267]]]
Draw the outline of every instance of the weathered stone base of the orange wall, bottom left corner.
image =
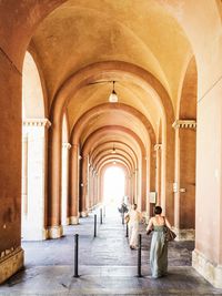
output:
[[19, 269], [23, 267], [23, 249], [21, 247], [14, 251], [1, 252], [0, 258], [0, 284], [16, 274]]

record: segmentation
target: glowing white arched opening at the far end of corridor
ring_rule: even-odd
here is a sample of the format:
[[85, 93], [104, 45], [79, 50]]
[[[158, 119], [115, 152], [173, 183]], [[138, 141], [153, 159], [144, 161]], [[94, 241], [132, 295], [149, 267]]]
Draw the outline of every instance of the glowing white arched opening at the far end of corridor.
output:
[[104, 173], [103, 203], [108, 207], [118, 207], [121, 205], [125, 195], [125, 176], [122, 169], [115, 165], [107, 169]]

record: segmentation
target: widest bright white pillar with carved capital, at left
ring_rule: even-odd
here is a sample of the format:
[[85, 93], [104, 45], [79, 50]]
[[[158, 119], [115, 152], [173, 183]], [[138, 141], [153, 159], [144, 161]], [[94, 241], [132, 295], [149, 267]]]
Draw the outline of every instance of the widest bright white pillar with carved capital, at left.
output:
[[[48, 238], [46, 229], [47, 203], [47, 132], [50, 126], [47, 119], [31, 119], [23, 121], [23, 133], [27, 143], [23, 143], [23, 173], [28, 172], [27, 202], [23, 201], [22, 238], [26, 241], [42, 241]], [[27, 163], [26, 163], [27, 159]], [[27, 166], [27, 172], [26, 172]], [[24, 185], [24, 184], [23, 184]], [[22, 186], [26, 192], [26, 186]], [[26, 194], [22, 192], [22, 197]]]

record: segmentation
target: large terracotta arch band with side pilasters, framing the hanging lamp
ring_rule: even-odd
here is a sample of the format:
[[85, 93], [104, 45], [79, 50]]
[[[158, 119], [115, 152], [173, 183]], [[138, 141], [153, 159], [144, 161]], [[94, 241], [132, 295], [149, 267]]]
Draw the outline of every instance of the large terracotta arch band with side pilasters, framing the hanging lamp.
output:
[[[167, 183], [173, 183], [173, 171], [174, 171], [174, 134], [172, 133], [172, 123], [174, 119], [174, 112], [172, 108], [171, 100], [161, 85], [161, 83], [149, 72], [145, 70], [120, 61], [111, 61], [111, 62], [98, 62], [92, 65], [88, 65], [73, 74], [67, 82], [60, 88], [58, 91], [52, 108], [50, 112], [50, 119], [53, 123], [53, 129], [51, 130], [49, 136], [49, 176], [50, 176], [50, 184], [49, 184], [49, 202], [52, 206], [49, 206], [49, 221], [53, 225], [59, 224], [59, 214], [58, 208], [53, 205], [58, 204], [60, 200], [59, 192], [60, 192], [60, 184], [58, 180], [60, 180], [60, 169], [61, 167], [61, 160], [60, 160], [60, 142], [61, 142], [61, 110], [65, 108], [71, 96], [82, 86], [87, 85], [89, 82], [93, 81], [94, 79], [99, 79], [102, 73], [102, 78], [104, 78], [105, 73], [111, 73], [113, 71], [119, 71], [124, 73], [125, 75], [131, 75], [134, 79], [142, 83], [144, 83], [148, 88], [152, 85], [153, 93], [155, 93], [159, 101], [162, 102], [163, 110], [168, 113], [165, 118], [167, 126], [165, 126], [165, 161], [168, 163], [165, 167], [165, 177]], [[153, 94], [154, 95], [154, 94]], [[74, 145], [77, 145], [74, 143]], [[173, 198], [172, 198], [172, 190], [170, 186], [167, 186], [168, 194], [168, 204], [167, 210], [170, 211], [169, 218], [173, 217]], [[53, 196], [53, 197], [52, 197]], [[53, 202], [52, 200], [53, 198]]]

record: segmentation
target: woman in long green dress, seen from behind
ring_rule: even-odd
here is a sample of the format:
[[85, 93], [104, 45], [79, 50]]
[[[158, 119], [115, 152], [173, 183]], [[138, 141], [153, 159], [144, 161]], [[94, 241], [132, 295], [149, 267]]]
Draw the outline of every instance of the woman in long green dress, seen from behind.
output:
[[164, 239], [164, 226], [171, 228], [169, 221], [162, 216], [161, 206], [155, 206], [155, 216], [148, 224], [147, 233], [153, 231], [150, 247], [150, 267], [152, 277], [158, 278], [168, 273], [168, 243]]

